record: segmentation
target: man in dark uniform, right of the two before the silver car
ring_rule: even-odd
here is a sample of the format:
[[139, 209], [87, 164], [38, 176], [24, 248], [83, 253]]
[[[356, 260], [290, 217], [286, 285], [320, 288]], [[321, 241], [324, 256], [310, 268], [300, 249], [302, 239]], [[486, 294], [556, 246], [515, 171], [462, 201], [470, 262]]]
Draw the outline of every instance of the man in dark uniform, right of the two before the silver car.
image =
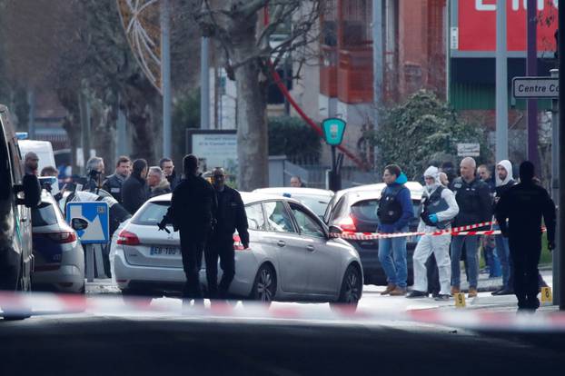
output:
[[[235, 275], [235, 253], [233, 250], [233, 232], [237, 230], [243, 248], [249, 247], [247, 215], [242, 196], [225, 185], [223, 168], [216, 168], [212, 174], [213, 188], [216, 192], [217, 209], [215, 225], [209, 241], [206, 243], [206, 278], [210, 298], [225, 299]], [[218, 257], [222, 267], [222, 281], [218, 286]]]

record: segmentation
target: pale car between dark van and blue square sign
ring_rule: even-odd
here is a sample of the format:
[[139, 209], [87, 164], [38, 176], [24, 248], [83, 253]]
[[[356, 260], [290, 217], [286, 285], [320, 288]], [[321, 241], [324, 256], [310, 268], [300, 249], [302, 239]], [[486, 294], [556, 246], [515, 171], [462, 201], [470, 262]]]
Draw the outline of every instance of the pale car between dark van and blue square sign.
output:
[[34, 290], [84, 293], [84, 251], [78, 236], [45, 190], [32, 210]]

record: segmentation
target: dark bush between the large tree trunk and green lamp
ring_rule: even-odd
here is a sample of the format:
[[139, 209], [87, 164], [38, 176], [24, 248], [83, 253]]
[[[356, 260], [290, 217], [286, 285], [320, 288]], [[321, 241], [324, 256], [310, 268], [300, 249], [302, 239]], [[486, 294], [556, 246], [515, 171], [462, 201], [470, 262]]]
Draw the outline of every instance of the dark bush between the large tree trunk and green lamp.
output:
[[320, 136], [302, 119], [292, 116], [269, 119], [269, 155], [286, 155], [292, 163], [317, 164]]

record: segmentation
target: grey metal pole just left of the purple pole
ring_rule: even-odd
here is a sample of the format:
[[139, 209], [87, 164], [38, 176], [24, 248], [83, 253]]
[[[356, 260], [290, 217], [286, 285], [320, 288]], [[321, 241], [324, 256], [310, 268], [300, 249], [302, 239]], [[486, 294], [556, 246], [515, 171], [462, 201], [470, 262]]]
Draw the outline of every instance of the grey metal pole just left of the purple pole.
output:
[[496, 1], [496, 160], [508, 159], [506, 0]]

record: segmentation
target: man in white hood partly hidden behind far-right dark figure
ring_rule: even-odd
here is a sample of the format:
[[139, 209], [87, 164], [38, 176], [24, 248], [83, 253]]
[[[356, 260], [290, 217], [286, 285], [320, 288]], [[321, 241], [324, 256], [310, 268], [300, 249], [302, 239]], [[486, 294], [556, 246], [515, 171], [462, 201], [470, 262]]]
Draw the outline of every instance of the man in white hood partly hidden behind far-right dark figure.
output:
[[[512, 163], [505, 159], [496, 164], [496, 189], [494, 192], [493, 209], [496, 210], [496, 204], [501, 199], [503, 193], [507, 192], [516, 182], [512, 179]], [[498, 224], [492, 226], [493, 230], [500, 230]], [[510, 246], [508, 238], [503, 237], [501, 234], [495, 235], [494, 242], [496, 243], [496, 254], [501, 262], [502, 269], [502, 286], [492, 295], [512, 295], [514, 293], [513, 277], [512, 277], [512, 262], [510, 260]]]

